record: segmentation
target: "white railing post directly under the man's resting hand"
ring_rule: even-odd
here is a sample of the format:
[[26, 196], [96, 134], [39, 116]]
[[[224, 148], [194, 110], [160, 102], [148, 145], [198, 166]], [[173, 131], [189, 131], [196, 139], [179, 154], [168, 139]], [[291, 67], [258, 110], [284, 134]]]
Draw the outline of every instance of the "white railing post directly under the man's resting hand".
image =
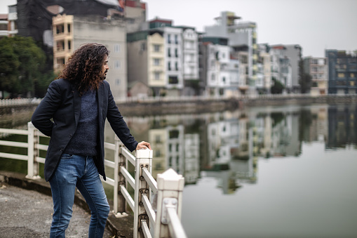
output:
[[147, 224], [150, 225], [149, 217], [142, 204], [142, 194], [147, 194], [149, 199], [151, 195], [150, 187], [142, 175], [142, 168], [147, 168], [151, 173], [152, 150], [137, 150], [135, 153], [134, 238], [142, 238], [144, 235], [139, 231], [139, 229], [141, 230], [141, 220], [146, 220]]

